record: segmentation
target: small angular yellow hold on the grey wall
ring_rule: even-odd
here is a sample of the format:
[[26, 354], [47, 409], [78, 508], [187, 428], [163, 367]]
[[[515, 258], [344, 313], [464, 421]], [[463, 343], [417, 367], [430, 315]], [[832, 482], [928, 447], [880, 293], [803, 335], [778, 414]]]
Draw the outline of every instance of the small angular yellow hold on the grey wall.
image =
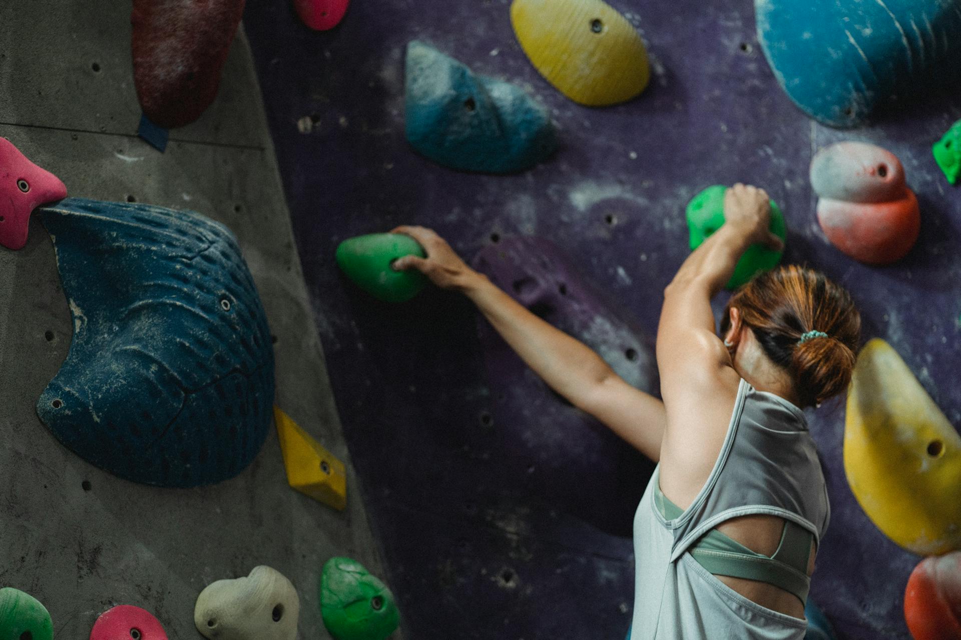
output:
[[277, 436], [281, 440], [287, 483], [301, 493], [334, 509], [347, 506], [347, 474], [344, 463], [310, 438], [309, 434], [274, 407]]

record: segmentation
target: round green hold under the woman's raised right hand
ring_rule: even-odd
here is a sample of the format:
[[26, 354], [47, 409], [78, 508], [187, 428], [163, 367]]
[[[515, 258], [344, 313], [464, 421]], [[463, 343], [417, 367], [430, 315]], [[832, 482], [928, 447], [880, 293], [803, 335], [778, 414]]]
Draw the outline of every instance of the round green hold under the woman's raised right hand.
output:
[[[715, 184], [704, 189], [687, 205], [687, 228], [691, 233], [691, 250], [701, 244], [712, 233], [724, 225], [724, 195], [727, 187]], [[771, 232], [781, 240], [787, 238], [787, 225], [784, 215], [775, 201], [771, 201]], [[727, 281], [727, 289], [737, 289], [758, 273], [770, 271], [780, 262], [784, 251], [768, 249], [763, 245], [752, 245], [744, 252], [734, 268], [734, 274]]]

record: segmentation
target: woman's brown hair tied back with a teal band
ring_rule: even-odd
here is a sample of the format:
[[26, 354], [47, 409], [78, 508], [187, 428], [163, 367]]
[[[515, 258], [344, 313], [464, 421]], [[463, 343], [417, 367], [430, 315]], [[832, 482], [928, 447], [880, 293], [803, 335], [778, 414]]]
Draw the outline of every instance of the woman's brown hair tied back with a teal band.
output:
[[[758, 275], [727, 302], [722, 333], [730, 328], [731, 307], [741, 312], [767, 356], [791, 374], [801, 406], [848, 389], [861, 316], [850, 294], [824, 273], [790, 265]], [[827, 337], [810, 337], [812, 331]]]

